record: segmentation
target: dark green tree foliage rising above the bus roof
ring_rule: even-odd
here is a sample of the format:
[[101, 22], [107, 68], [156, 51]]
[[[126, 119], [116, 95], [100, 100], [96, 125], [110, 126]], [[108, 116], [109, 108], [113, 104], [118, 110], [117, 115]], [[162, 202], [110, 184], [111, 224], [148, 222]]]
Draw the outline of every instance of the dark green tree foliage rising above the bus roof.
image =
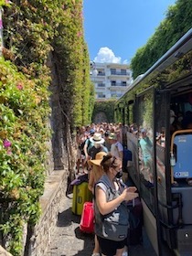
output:
[[156, 28], [144, 47], [139, 48], [132, 61], [133, 78], [143, 74], [157, 59], [162, 57], [176, 41], [191, 28], [192, 1], [177, 0], [169, 6], [165, 20]]

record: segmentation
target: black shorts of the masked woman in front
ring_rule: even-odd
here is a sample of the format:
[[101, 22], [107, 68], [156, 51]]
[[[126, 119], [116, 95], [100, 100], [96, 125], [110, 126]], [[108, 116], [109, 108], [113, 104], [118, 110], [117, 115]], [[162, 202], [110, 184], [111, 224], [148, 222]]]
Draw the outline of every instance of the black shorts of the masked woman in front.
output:
[[113, 256], [116, 255], [117, 249], [123, 249], [123, 247], [126, 245], [127, 241], [125, 240], [106, 240], [101, 237], [97, 237], [101, 253], [107, 256]]

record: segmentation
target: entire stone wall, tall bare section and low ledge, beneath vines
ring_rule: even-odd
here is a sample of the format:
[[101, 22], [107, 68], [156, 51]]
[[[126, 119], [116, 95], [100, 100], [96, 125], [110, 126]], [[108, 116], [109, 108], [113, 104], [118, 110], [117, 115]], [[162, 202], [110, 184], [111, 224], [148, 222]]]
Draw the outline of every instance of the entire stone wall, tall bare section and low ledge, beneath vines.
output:
[[[51, 70], [50, 95], [50, 126], [51, 141], [48, 142], [47, 181], [45, 191], [40, 197], [42, 208], [41, 218], [34, 230], [27, 230], [25, 256], [46, 256], [50, 244], [51, 234], [57, 225], [60, 201], [65, 197], [68, 176], [73, 176], [76, 164], [77, 149], [73, 145], [70, 123], [63, 113], [61, 100], [63, 95], [59, 87], [59, 74], [53, 52], [48, 56], [48, 67]], [[69, 175], [70, 173], [70, 175]], [[30, 238], [30, 233], [32, 236]], [[28, 240], [30, 238], [30, 240]]]

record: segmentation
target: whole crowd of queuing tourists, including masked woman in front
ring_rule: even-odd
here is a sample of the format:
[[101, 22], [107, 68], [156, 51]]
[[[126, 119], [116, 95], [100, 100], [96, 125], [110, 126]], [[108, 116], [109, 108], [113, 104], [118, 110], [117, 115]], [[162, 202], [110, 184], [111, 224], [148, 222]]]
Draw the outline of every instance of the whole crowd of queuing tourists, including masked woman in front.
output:
[[76, 172], [88, 173], [88, 187], [94, 198], [95, 246], [91, 256], [128, 255], [127, 203], [138, 194], [136, 187], [127, 187], [122, 179], [122, 123], [82, 126], [77, 144]]

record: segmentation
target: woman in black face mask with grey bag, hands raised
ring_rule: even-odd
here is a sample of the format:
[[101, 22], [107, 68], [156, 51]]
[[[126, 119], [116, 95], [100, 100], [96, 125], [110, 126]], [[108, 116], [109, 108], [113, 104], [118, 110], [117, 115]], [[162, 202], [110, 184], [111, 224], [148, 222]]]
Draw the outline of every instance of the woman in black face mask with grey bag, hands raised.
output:
[[[103, 256], [123, 256], [126, 232], [129, 227], [126, 201], [133, 200], [138, 197], [138, 194], [135, 193], [136, 187], [123, 187], [120, 183], [123, 175], [120, 158], [111, 154], [105, 155], [102, 158], [101, 167], [104, 175], [95, 185], [95, 233]], [[115, 229], [107, 229], [104, 223], [107, 222], [110, 225], [113, 213], [117, 214], [119, 222]], [[124, 221], [123, 230], [120, 223], [122, 220]], [[120, 232], [118, 240], [117, 232]]]

